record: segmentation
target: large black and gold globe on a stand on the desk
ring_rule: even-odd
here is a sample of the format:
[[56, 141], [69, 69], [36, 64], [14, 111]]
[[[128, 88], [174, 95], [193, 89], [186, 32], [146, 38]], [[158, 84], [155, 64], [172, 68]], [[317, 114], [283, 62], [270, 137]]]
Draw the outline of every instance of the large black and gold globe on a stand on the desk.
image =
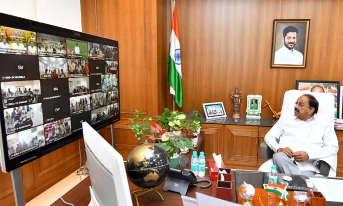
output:
[[132, 192], [137, 205], [139, 205], [137, 196], [150, 191], [156, 192], [164, 200], [162, 195], [152, 188], [165, 180], [169, 169], [169, 155], [157, 144], [143, 143], [131, 151], [126, 162], [128, 176], [135, 185], [145, 188]]

